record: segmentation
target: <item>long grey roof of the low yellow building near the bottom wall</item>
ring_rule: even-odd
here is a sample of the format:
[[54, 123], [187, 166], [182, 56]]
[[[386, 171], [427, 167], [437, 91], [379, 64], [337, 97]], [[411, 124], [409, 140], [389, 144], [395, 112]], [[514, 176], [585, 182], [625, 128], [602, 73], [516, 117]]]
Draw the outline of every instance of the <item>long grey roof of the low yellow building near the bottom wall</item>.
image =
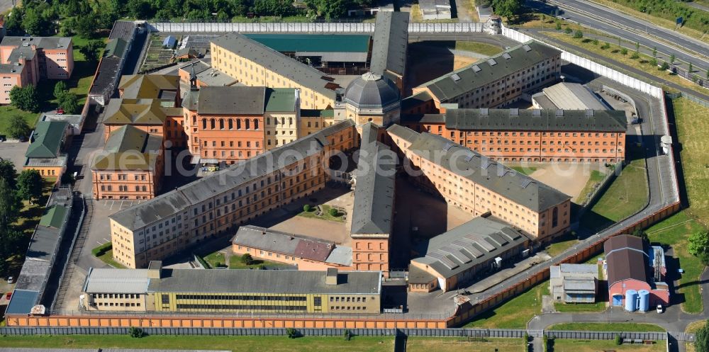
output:
[[325, 285], [324, 271], [162, 269], [150, 280], [156, 293], [369, 294], [381, 292], [381, 272], [340, 271], [337, 285]]

